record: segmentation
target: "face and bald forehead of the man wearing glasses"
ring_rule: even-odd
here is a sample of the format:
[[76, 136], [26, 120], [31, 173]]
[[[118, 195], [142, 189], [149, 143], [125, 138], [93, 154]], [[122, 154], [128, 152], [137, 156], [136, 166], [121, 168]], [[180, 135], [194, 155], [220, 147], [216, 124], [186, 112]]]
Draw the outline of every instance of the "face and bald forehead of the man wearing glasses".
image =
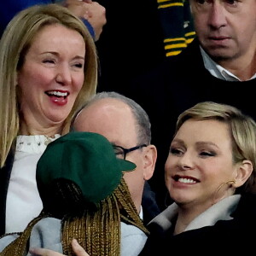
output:
[[[135, 119], [131, 109], [117, 99], [106, 98], [92, 103], [85, 108], [74, 122], [76, 131], [90, 131], [108, 138], [113, 145], [123, 148], [132, 148], [138, 145]], [[140, 207], [143, 186], [144, 169], [143, 156], [145, 148], [137, 149], [126, 154], [126, 160], [131, 160], [137, 165], [133, 172], [124, 175], [131, 192], [131, 198], [137, 208]], [[108, 170], [106, 170], [108, 171]], [[138, 202], [138, 203], [137, 203]]]

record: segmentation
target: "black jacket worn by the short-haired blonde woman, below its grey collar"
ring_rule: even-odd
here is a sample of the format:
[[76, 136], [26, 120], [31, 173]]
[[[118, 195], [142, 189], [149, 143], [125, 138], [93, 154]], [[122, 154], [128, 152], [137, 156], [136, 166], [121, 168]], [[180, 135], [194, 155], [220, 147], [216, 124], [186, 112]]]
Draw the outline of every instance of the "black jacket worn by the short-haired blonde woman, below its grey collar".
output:
[[[213, 226], [188, 230], [172, 236], [159, 226], [148, 225], [151, 234], [140, 256], [151, 255], [249, 255], [254, 250], [256, 196], [242, 195], [233, 219], [219, 220]], [[215, 254], [216, 253], [216, 254]]]

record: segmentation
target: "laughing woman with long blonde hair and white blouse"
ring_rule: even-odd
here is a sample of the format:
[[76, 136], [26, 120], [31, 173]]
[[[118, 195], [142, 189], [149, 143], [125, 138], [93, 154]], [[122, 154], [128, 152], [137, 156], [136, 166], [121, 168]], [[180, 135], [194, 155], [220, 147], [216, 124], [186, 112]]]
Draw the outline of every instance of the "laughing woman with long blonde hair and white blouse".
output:
[[11, 20], [0, 41], [0, 235], [41, 212], [38, 159], [96, 84], [94, 41], [67, 8], [33, 6]]

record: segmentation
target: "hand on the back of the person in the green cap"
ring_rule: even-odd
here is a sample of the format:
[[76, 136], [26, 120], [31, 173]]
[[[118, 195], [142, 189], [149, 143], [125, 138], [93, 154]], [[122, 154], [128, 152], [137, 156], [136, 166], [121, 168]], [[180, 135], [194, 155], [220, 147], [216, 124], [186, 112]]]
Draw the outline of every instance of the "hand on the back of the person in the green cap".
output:
[[[76, 256], [90, 256], [84, 251], [84, 248], [79, 245], [76, 239], [71, 241], [71, 245]], [[29, 252], [34, 256], [65, 256], [64, 254], [56, 253], [55, 251], [44, 248], [31, 248]]]

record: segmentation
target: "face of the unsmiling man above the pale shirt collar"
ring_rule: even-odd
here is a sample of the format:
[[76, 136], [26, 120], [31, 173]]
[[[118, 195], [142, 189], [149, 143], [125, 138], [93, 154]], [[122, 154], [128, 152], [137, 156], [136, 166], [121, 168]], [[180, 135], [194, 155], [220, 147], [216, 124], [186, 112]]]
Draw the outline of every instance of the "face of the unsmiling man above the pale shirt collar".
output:
[[190, 0], [195, 31], [213, 60], [251, 60], [256, 48], [255, 0]]

